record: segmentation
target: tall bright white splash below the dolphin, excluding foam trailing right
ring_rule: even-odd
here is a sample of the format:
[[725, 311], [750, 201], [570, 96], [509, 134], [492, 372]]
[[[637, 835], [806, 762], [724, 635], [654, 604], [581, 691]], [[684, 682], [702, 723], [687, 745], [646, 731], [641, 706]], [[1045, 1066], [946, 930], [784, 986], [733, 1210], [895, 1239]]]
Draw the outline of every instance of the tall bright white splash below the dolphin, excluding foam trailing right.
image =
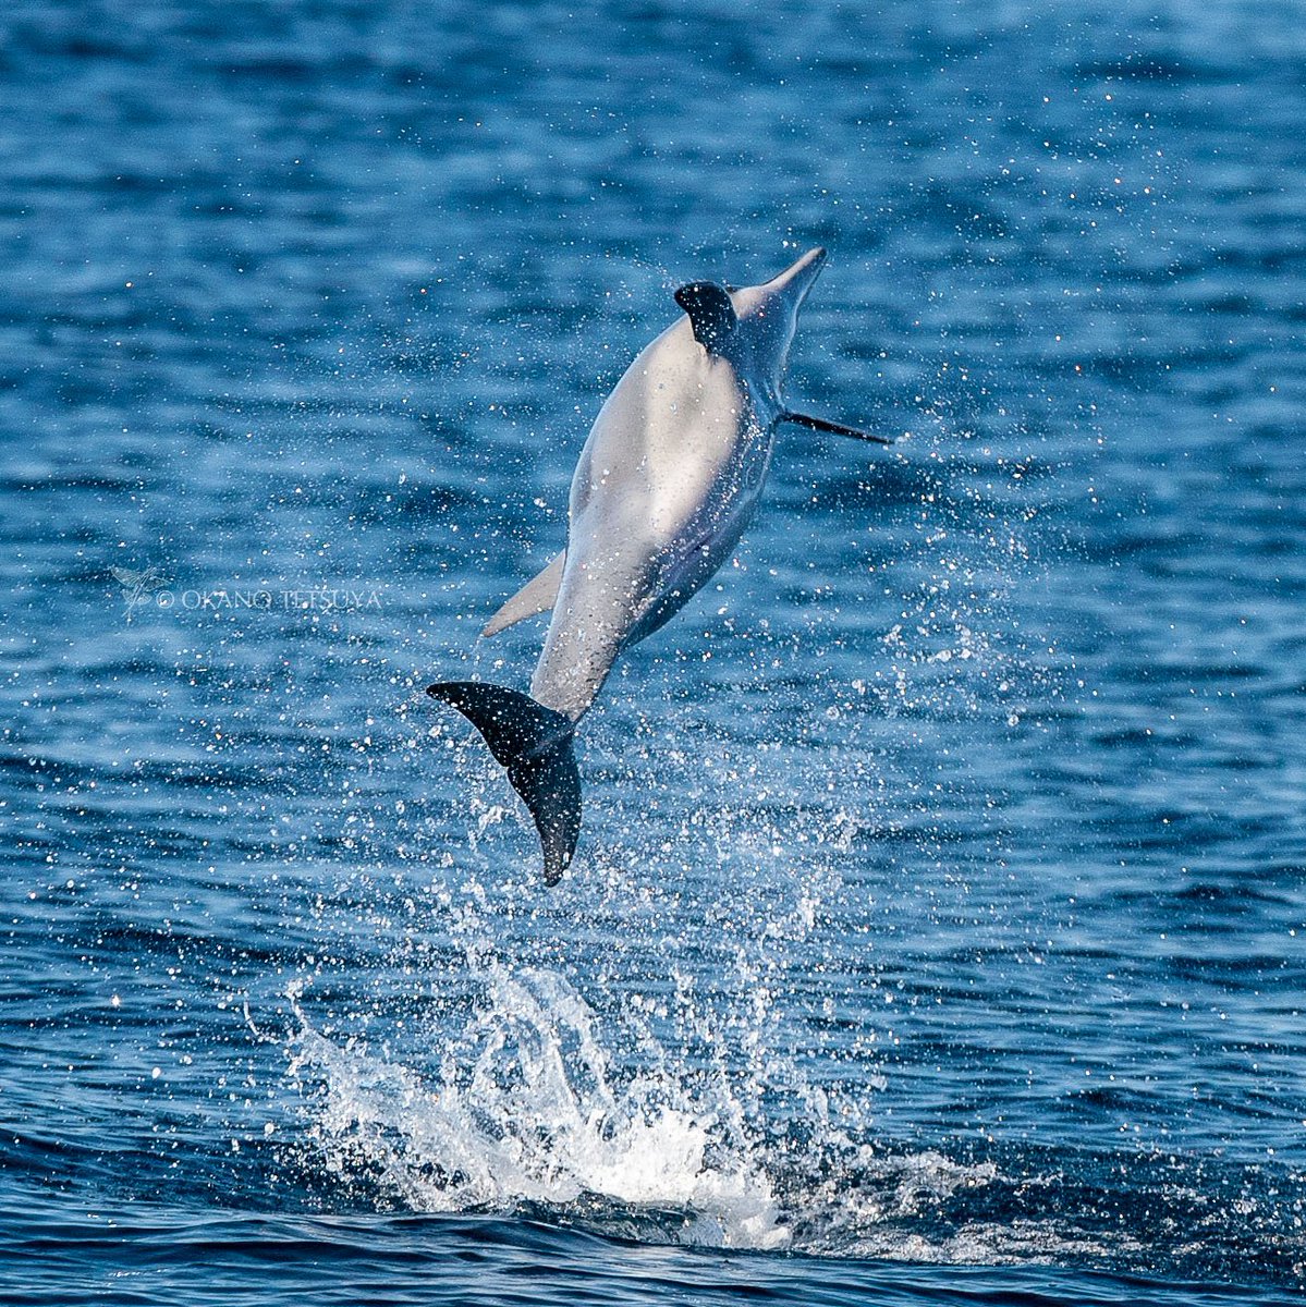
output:
[[414, 1210], [565, 1208], [595, 1197], [669, 1218], [668, 1239], [788, 1243], [733, 1104], [654, 1069], [621, 1080], [561, 975], [482, 972], [485, 996], [438, 1073], [315, 1030], [298, 993], [292, 1073], [319, 1081], [311, 1134], [328, 1170], [370, 1174]]

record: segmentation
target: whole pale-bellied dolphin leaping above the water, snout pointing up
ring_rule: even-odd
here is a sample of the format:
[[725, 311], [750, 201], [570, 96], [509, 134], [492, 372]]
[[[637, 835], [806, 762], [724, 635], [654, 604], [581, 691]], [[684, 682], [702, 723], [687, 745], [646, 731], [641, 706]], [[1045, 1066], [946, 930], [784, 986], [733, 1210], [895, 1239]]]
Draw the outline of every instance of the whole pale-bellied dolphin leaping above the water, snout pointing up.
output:
[[779, 423], [893, 443], [782, 397], [799, 308], [825, 259], [818, 247], [758, 286], [694, 281], [676, 291], [682, 316], [626, 369], [580, 451], [566, 549], [482, 631], [553, 609], [531, 693], [484, 681], [426, 689], [507, 769], [540, 833], [546, 885], [561, 880], [580, 834], [578, 723], [617, 655], [669, 621], [729, 557]]

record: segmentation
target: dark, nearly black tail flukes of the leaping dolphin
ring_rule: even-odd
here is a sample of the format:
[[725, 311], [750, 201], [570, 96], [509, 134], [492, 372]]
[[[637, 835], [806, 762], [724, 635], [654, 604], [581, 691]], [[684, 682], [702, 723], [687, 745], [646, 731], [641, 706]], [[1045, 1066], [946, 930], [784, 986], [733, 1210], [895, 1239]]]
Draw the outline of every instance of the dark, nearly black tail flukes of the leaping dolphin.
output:
[[557, 885], [580, 834], [575, 723], [528, 694], [484, 681], [442, 681], [426, 693], [458, 708], [485, 737], [494, 761], [531, 809], [544, 850], [544, 884]]

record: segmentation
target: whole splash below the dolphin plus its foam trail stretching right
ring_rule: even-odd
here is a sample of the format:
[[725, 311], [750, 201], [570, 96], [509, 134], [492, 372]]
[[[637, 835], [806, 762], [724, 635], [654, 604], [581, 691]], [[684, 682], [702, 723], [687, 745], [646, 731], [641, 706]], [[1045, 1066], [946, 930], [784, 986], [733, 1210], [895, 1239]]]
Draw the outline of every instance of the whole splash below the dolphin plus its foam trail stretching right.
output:
[[724, 1081], [692, 1089], [661, 1051], [656, 1070], [618, 1076], [596, 1013], [563, 976], [492, 963], [478, 979], [482, 1001], [434, 1074], [328, 1038], [292, 996], [307, 1137], [341, 1185], [367, 1176], [382, 1205], [413, 1212], [543, 1209], [597, 1233], [720, 1248], [1020, 1264], [1137, 1247], [1073, 1216], [940, 1222], [1021, 1182], [933, 1149], [890, 1155], [828, 1120], [795, 1155], [740, 1128]]

